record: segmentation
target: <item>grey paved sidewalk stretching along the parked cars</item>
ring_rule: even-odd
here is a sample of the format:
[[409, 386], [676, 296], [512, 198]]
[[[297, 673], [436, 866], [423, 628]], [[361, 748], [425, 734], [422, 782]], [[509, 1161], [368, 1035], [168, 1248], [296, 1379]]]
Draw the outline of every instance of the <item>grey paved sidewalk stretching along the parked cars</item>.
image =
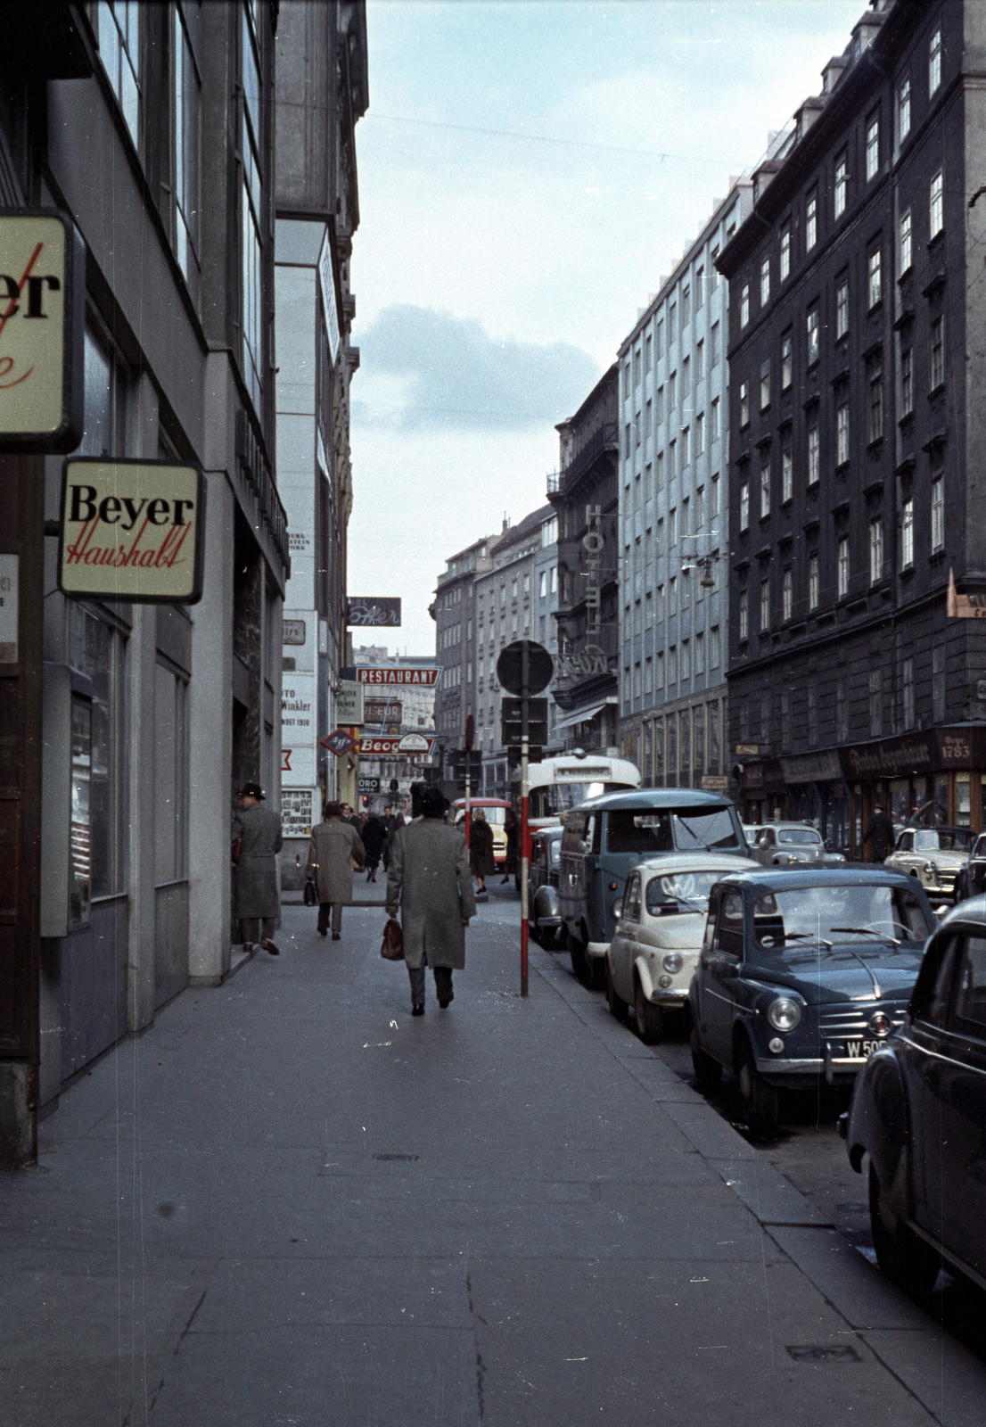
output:
[[515, 903], [422, 1020], [381, 920], [287, 908], [0, 1179], [3, 1427], [979, 1427], [986, 1367], [562, 959], [519, 999]]

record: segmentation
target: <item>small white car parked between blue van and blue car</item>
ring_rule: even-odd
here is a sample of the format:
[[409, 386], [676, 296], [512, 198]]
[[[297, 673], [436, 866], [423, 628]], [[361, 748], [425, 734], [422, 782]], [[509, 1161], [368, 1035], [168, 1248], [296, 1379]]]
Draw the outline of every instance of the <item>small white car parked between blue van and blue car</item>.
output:
[[679, 852], [649, 858], [626, 878], [605, 955], [606, 1002], [616, 1020], [626, 1020], [634, 1007], [641, 1040], [659, 1040], [665, 1012], [685, 1009], [709, 892], [731, 872], [752, 866], [749, 858], [728, 852]]

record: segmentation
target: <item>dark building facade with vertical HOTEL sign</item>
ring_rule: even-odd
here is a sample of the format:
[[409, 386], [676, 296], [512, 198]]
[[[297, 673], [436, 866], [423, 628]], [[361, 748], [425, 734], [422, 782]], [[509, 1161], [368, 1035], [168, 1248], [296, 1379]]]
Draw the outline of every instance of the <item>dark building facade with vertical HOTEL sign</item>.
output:
[[616, 745], [619, 682], [619, 375], [614, 364], [558, 430], [558, 474], [548, 499], [558, 515], [559, 752]]

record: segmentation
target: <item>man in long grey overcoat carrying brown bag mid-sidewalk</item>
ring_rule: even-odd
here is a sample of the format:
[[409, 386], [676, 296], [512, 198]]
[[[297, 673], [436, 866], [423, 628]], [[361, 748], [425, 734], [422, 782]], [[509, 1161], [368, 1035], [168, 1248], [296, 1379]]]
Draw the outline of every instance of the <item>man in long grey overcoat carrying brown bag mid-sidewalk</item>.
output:
[[462, 833], [441, 821], [444, 803], [437, 788], [424, 791], [422, 816], [395, 833], [387, 869], [387, 915], [401, 910], [415, 1016], [425, 1013], [425, 966], [441, 1009], [452, 1000], [452, 970], [465, 966], [465, 928], [475, 916], [469, 852]]

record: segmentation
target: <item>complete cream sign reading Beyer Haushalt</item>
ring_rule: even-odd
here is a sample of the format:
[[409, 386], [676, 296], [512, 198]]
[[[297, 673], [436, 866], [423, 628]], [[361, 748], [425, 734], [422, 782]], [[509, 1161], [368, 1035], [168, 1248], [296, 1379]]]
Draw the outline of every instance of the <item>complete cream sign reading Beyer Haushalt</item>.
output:
[[59, 588], [76, 599], [194, 605], [205, 477], [177, 461], [66, 461]]

